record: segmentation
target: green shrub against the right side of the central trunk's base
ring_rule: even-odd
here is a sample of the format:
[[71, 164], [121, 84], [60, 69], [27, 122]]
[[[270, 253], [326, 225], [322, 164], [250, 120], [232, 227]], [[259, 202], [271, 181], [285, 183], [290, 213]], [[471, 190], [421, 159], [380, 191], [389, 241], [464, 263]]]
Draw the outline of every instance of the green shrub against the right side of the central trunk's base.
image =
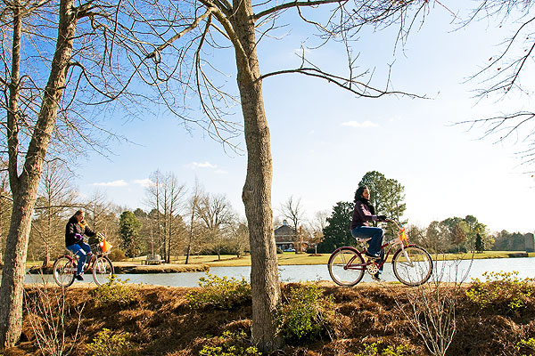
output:
[[277, 314], [279, 332], [289, 343], [314, 340], [329, 329], [333, 316], [333, 295], [325, 297], [312, 283], [291, 287]]

